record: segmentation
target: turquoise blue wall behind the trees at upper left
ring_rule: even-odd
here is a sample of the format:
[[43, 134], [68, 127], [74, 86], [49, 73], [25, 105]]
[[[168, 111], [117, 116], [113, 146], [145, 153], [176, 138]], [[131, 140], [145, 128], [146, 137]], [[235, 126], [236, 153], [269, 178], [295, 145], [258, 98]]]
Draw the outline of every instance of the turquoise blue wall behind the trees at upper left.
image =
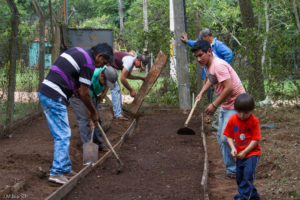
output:
[[[51, 66], [51, 43], [45, 42], [45, 67]], [[29, 66], [33, 67], [38, 65], [40, 55], [40, 45], [39, 42], [32, 42], [29, 48]]]

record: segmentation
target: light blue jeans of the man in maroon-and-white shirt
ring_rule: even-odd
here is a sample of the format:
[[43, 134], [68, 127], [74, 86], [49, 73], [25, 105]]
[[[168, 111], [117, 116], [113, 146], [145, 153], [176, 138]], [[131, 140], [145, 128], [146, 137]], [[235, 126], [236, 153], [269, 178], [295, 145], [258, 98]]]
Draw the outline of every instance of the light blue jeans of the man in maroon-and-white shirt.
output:
[[114, 110], [114, 116], [122, 117], [123, 116], [122, 95], [121, 95], [121, 89], [118, 81], [116, 81], [114, 88], [110, 88], [110, 93], [111, 93], [111, 102]]

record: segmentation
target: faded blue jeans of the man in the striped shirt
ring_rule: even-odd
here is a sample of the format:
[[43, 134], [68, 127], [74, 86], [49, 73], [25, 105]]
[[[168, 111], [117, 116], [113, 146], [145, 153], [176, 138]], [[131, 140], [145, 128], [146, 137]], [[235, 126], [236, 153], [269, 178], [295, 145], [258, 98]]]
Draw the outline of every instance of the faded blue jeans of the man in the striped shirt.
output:
[[61, 176], [72, 170], [69, 156], [71, 129], [67, 106], [62, 103], [62, 99], [55, 101], [40, 92], [38, 96], [54, 140], [54, 158], [50, 175]]

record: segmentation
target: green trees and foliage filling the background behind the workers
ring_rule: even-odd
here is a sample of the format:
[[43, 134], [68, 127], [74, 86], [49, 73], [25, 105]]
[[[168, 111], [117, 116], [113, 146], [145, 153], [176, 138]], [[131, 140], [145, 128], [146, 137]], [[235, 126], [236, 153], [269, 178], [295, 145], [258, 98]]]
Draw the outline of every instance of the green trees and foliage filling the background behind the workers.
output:
[[[9, 49], [12, 34], [11, 19], [14, 17], [8, 2], [0, 0], [0, 101], [5, 105], [9, 84]], [[19, 11], [16, 91], [34, 92], [38, 88], [39, 72], [29, 67], [29, 47], [39, 37], [39, 15], [33, 1], [14, 0]], [[46, 40], [51, 42], [49, 2], [58, 24], [64, 24], [63, 0], [37, 0], [45, 16]], [[233, 67], [238, 72], [246, 88], [249, 86], [251, 55], [263, 60], [262, 73], [264, 91], [273, 100], [299, 100], [300, 91], [300, 24], [299, 2], [297, 0], [252, 0], [257, 26], [251, 31], [243, 26], [239, 8], [241, 0], [186, 0], [186, 27], [191, 39], [195, 34], [197, 18], [201, 28], [211, 28], [214, 36], [227, 44], [234, 52]], [[148, 0], [149, 31], [144, 32], [143, 0], [122, 0], [124, 20], [124, 44], [122, 49], [142, 53], [145, 40], [148, 53], [154, 56], [162, 50], [169, 53], [169, 1]], [[120, 46], [119, 10], [117, 0], [72, 0], [68, 1], [68, 25], [73, 28], [113, 29], [115, 49]], [[254, 42], [255, 41], [255, 42]], [[254, 43], [258, 43], [255, 46]], [[253, 45], [252, 45], [253, 44]], [[251, 46], [252, 45], [252, 46]], [[197, 94], [196, 62], [188, 53], [191, 93]], [[146, 101], [152, 103], [178, 104], [176, 82], [169, 77], [169, 64], [152, 89]], [[47, 73], [47, 71], [45, 72]], [[254, 74], [255, 76], [255, 74]], [[258, 77], [257, 77], [258, 78]], [[131, 82], [138, 89], [140, 83]], [[126, 94], [126, 90], [124, 90]], [[265, 96], [264, 96], [265, 97]], [[259, 100], [259, 99], [258, 99]], [[262, 100], [260, 98], [260, 100]], [[24, 103], [24, 102], [23, 102]], [[36, 104], [33, 101], [26, 102]], [[1, 107], [0, 121], [6, 114]], [[19, 107], [19, 106], [17, 106]], [[15, 112], [17, 107], [15, 107]], [[24, 107], [24, 106], [21, 106]], [[33, 110], [36, 110], [34, 108]], [[26, 112], [28, 113], [28, 112]], [[22, 116], [22, 115], [16, 115]], [[15, 116], [15, 119], [17, 117]], [[0, 123], [0, 124], [1, 124]]]

